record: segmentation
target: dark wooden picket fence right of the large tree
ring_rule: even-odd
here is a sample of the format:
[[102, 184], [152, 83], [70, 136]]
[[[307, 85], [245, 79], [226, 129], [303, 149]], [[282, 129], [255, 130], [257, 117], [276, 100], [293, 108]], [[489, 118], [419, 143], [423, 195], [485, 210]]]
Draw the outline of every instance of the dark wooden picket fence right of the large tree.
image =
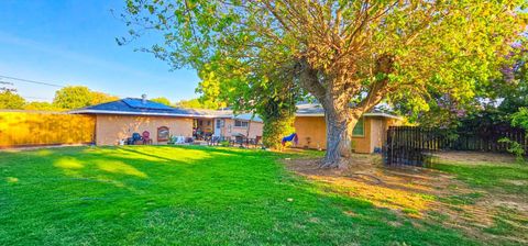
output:
[[391, 126], [383, 148], [387, 165], [425, 166], [432, 161], [431, 154], [437, 150], [476, 150], [506, 153], [508, 138], [519, 143], [528, 153], [526, 133], [519, 128], [490, 127], [487, 130], [439, 130], [417, 126]]

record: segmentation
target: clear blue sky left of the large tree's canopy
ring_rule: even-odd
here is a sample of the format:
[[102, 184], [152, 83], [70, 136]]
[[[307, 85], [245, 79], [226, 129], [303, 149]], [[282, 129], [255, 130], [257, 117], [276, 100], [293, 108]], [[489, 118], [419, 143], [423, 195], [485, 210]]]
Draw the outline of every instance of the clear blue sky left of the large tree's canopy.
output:
[[[82, 85], [119, 97], [196, 98], [196, 71], [170, 67], [134, 52], [157, 38], [144, 36], [127, 46], [114, 38], [127, 26], [110, 12], [124, 0], [0, 1], [0, 76], [59, 85]], [[30, 101], [50, 101], [57, 88], [14, 82]]]

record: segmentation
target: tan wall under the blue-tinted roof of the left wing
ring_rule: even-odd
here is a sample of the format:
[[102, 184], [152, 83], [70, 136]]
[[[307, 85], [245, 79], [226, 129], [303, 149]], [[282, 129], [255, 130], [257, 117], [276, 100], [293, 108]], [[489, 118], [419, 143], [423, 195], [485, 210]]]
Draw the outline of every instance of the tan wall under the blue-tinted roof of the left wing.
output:
[[167, 116], [133, 115], [97, 115], [97, 145], [117, 145], [120, 139], [131, 137], [132, 133], [151, 133], [154, 144], [157, 143], [157, 128], [167, 126], [173, 136], [193, 136], [193, 119]]

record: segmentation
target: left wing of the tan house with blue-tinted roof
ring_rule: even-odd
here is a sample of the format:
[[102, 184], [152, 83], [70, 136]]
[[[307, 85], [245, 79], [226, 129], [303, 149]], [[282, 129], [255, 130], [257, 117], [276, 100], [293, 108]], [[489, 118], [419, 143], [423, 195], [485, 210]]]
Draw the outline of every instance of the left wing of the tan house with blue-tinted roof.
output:
[[69, 113], [96, 116], [96, 144], [117, 145], [133, 133], [148, 131], [154, 144], [168, 142], [169, 136], [204, 138], [224, 136], [258, 138], [263, 123], [251, 114], [234, 115], [232, 111], [193, 110], [168, 107], [145, 98], [127, 98], [101, 103]]

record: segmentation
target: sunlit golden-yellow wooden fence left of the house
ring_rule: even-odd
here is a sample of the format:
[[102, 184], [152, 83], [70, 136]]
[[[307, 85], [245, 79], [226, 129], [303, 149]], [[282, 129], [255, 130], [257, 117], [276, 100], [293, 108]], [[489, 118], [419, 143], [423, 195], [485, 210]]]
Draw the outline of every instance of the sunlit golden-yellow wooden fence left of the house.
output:
[[89, 144], [95, 142], [96, 119], [89, 115], [0, 112], [0, 148]]

